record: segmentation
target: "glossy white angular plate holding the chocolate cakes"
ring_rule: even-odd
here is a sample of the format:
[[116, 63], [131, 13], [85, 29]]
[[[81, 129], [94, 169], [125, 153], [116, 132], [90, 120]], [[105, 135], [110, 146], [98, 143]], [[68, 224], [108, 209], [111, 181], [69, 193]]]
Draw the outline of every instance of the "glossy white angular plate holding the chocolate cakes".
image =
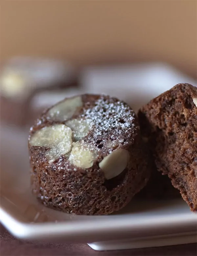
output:
[[[150, 67], [146, 68], [149, 68], [150, 72]], [[124, 95], [128, 98], [130, 95], [130, 99], [135, 96], [138, 99], [136, 109], [145, 103], [145, 98], [147, 101], [175, 83], [184, 80], [182, 76], [180, 81], [174, 82], [175, 79], [173, 80], [171, 76], [168, 82], [165, 81], [166, 86], [164, 86], [162, 77], [165, 79], [167, 72], [165, 68], [162, 72], [161, 67], [160, 73], [158, 69], [155, 69], [155, 77], [158, 74], [161, 76], [161, 84], [160, 79], [156, 83], [158, 86], [154, 83], [153, 69], [151, 71], [152, 83], [148, 76], [149, 73], [143, 73], [142, 67], [138, 67], [135, 72], [131, 67], [127, 70], [117, 69], [116, 72], [112, 72], [113, 68], [111, 68], [111, 73], [109, 70], [107, 73], [107, 70], [88, 69], [84, 71], [83, 91], [120, 95], [120, 98], [124, 98]], [[117, 75], [118, 72], [120, 76]], [[145, 77], [141, 88], [140, 83], [137, 83], [137, 78], [136, 83], [132, 82], [131, 78], [129, 80], [129, 74], [135, 75], [137, 72], [142, 73], [143, 76], [147, 74], [147, 81], [149, 81], [147, 86], [145, 86]], [[127, 80], [124, 80], [125, 74], [127, 74]], [[118, 84], [122, 84], [121, 87], [116, 83], [118, 77]], [[109, 82], [110, 78], [111, 82]], [[177, 75], [176, 79], [178, 80]], [[192, 82], [191, 79], [184, 80], [186, 81]], [[106, 88], [104, 87], [106, 84], [113, 84], [113, 86]], [[124, 88], [126, 94], [124, 92], [123, 95]], [[146, 95], [148, 96], [144, 97]], [[23, 239], [62, 239], [68, 243], [88, 243], [96, 250], [163, 246], [197, 241], [197, 215], [190, 212], [182, 198], [159, 201], [133, 199], [124, 209], [108, 216], [75, 216], [44, 207], [31, 194], [27, 136], [28, 130], [26, 129], [20, 130], [17, 127], [5, 127], [1, 124], [0, 221], [14, 236]]]

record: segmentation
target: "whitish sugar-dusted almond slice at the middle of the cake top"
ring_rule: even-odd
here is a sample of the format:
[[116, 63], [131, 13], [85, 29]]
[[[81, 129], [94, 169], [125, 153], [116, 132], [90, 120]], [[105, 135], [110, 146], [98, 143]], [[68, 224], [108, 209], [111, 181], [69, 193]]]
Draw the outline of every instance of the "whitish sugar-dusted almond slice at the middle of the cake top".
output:
[[73, 138], [78, 141], [85, 137], [93, 127], [91, 119], [72, 119], [66, 122], [66, 125], [73, 131]]

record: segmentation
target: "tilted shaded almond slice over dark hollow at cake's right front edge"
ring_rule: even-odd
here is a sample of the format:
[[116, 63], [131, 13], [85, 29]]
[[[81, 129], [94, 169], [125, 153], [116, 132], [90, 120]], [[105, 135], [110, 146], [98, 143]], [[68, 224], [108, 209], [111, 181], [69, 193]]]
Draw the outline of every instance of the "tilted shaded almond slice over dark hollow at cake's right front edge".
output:
[[125, 149], [117, 149], [103, 158], [99, 163], [106, 179], [118, 176], [127, 167], [129, 152]]

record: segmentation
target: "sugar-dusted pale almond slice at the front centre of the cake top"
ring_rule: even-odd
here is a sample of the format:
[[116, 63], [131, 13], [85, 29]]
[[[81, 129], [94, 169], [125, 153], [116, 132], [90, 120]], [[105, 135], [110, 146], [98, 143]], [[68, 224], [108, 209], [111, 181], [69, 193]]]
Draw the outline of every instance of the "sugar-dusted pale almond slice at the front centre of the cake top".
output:
[[90, 168], [93, 166], [96, 154], [88, 148], [84, 141], [73, 142], [69, 161], [80, 168]]

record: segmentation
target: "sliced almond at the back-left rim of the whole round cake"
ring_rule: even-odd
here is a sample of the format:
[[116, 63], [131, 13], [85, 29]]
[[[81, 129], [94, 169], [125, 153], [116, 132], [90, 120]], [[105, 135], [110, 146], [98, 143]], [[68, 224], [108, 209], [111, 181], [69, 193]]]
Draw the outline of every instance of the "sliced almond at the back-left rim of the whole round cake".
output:
[[66, 121], [71, 118], [82, 105], [81, 96], [73, 97], [52, 107], [47, 115], [57, 121]]

